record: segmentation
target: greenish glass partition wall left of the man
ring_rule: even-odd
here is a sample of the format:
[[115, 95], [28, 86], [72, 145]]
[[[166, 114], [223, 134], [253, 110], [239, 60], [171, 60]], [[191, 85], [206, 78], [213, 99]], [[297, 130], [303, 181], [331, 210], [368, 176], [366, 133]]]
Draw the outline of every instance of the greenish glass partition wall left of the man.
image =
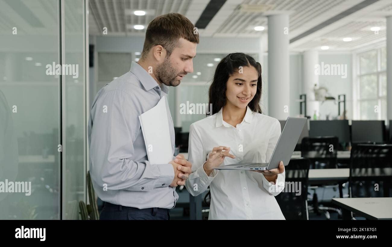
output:
[[0, 0], [0, 219], [86, 200], [86, 1]]

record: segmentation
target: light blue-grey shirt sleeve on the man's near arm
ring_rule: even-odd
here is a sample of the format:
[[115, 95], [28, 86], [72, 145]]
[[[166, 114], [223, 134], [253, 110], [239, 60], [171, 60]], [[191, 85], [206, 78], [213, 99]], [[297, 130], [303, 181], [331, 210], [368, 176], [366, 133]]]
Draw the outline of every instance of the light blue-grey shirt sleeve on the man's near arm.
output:
[[92, 109], [91, 178], [108, 190], [151, 191], [169, 186], [174, 179], [171, 164], [134, 161], [134, 141], [140, 122], [135, 97], [121, 90], [108, 91]]

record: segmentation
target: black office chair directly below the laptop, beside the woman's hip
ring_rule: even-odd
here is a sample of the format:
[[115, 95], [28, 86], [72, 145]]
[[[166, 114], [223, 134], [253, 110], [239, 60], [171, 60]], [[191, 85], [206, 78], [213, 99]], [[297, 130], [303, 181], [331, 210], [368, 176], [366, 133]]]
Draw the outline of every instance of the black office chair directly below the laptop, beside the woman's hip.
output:
[[[286, 179], [284, 191], [275, 197], [286, 220], [309, 220], [308, 214], [308, 174], [309, 159], [291, 159], [289, 165], [285, 166]], [[299, 195], [295, 189], [299, 189]], [[286, 192], [287, 191], [287, 192]]]

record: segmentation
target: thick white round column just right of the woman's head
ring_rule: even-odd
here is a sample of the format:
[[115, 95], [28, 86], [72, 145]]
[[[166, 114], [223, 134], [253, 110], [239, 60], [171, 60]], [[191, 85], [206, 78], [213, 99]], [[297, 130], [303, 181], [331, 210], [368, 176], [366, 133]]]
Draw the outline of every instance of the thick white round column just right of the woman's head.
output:
[[268, 16], [268, 115], [286, 120], [290, 113], [289, 16]]

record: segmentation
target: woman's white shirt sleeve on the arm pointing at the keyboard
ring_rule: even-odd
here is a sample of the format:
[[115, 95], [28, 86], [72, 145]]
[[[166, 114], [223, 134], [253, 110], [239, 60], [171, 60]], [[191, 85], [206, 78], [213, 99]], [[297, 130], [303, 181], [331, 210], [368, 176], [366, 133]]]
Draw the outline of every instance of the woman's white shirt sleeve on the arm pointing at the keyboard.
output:
[[204, 151], [200, 132], [194, 124], [189, 127], [188, 160], [192, 163], [192, 173], [189, 175], [185, 187], [191, 195], [200, 195], [207, 190], [219, 171], [213, 170], [210, 176], [205, 173], [203, 165], [207, 160], [207, 153]]

